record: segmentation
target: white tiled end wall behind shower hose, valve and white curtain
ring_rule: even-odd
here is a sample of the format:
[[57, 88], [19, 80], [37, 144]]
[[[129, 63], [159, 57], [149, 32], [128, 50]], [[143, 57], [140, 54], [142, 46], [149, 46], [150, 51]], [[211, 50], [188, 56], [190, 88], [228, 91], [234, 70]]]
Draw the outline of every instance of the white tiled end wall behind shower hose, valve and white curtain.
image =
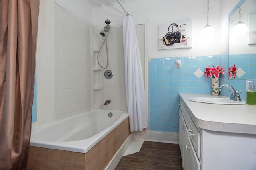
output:
[[[136, 35], [138, 38], [138, 45], [140, 49], [140, 60], [142, 64], [142, 70], [144, 70], [144, 61], [145, 61], [145, 25], [135, 25]], [[96, 30], [96, 35], [99, 36], [100, 30]], [[124, 75], [124, 49], [122, 39], [123, 27], [112, 27], [108, 35], [108, 55], [109, 55], [109, 65], [108, 68], [103, 70], [112, 70], [114, 73], [113, 78], [106, 79], [102, 75], [102, 109], [116, 109], [127, 111], [126, 104], [126, 94], [125, 94], [125, 75]], [[97, 43], [102, 43], [102, 41], [97, 41]], [[106, 58], [106, 46], [102, 47], [101, 55]], [[96, 57], [96, 56], [94, 56]], [[105, 63], [102, 65], [104, 66]], [[144, 71], [143, 71], [144, 76]], [[108, 105], [103, 105], [105, 100], [111, 100], [111, 103]]]

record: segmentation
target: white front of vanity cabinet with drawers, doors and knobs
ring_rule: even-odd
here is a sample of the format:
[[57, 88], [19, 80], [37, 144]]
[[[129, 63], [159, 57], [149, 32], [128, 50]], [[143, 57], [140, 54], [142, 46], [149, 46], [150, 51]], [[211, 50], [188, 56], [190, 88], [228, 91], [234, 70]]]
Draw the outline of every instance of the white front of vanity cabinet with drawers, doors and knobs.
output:
[[[183, 111], [182, 111], [183, 110]], [[196, 150], [200, 148], [200, 133], [196, 129], [184, 106], [180, 105], [179, 115], [179, 144], [182, 158], [182, 167], [184, 170], [200, 170], [200, 163]], [[196, 150], [195, 150], [196, 149]]]

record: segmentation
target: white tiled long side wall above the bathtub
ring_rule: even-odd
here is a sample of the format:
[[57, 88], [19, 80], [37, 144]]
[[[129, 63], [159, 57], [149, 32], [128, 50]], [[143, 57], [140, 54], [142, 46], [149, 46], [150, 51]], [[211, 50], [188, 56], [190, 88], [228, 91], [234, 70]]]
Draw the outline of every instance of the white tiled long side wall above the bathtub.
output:
[[55, 120], [90, 110], [90, 25], [55, 4]]

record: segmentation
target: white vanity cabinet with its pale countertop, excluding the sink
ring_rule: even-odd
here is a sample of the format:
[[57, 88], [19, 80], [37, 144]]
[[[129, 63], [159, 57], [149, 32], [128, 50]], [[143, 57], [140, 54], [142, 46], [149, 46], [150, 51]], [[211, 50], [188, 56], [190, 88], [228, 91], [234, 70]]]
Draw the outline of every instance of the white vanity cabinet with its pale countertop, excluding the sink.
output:
[[184, 170], [256, 170], [256, 105], [193, 102], [179, 94]]

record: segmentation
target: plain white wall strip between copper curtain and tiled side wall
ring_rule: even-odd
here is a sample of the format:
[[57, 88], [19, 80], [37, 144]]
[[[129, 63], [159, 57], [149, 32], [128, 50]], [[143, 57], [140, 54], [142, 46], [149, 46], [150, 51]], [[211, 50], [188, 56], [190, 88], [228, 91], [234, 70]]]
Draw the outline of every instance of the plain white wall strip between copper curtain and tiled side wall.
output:
[[54, 2], [40, 2], [36, 49], [38, 126], [54, 121], [54, 18], [52, 16], [54, 16]]

